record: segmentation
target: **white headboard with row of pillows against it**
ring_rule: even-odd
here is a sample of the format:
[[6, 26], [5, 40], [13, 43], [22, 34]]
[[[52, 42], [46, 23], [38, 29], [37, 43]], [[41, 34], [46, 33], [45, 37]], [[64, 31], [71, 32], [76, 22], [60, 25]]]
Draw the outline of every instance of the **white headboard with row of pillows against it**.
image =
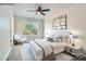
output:
[[67, 30], [52, 30], [49, 37], [53, 39], [53, 42], [70, 43], [70, 31]]

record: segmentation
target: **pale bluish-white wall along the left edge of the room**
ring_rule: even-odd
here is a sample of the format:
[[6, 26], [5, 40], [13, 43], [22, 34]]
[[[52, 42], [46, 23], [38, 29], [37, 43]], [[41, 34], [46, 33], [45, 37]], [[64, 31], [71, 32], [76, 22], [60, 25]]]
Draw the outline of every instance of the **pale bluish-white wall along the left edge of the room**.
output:
[[8, 7], [0, 7], [0, 61], [5, 60], [10, 51], [10, 13]]

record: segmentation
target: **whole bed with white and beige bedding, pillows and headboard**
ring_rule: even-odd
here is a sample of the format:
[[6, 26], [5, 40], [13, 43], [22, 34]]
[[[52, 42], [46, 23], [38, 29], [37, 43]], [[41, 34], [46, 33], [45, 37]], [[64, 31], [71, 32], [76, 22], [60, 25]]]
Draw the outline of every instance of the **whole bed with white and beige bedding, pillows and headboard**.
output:
[[67, 30], [52, 31], [49, 37], [53, 38], [52, 41], [47, 39], [29, 41], [29, 49], [36, 61], [53, 60], [57, 54], [64, 51], [65, 46], [70, 42], [70, 33]]

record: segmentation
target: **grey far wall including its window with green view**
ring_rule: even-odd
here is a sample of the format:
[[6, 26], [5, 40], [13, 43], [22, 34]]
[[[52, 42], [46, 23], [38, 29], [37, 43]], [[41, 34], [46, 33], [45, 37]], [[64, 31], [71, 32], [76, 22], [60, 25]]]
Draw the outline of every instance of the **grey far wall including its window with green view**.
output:
[[42, 38], [44, 21], [40, 18], [14, 16], [14, 34]]

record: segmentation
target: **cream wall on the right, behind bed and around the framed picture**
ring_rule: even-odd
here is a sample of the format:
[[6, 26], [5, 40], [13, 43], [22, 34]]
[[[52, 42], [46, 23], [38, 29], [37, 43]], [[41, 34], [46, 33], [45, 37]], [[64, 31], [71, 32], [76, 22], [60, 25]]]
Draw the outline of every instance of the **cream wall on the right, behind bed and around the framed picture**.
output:
[[63, 14], [66, 14], [67, 16], [67, 30], [73, 34], [78, 34], [79, 43], [77, 42], [77, 44], [83, 46], [86, 49], [86, 4], [76, 4], [66, 10], [48, 15], [48, 17], [45, 18], [45, 34], [48, 30], [51, 30], [52, 18]]

